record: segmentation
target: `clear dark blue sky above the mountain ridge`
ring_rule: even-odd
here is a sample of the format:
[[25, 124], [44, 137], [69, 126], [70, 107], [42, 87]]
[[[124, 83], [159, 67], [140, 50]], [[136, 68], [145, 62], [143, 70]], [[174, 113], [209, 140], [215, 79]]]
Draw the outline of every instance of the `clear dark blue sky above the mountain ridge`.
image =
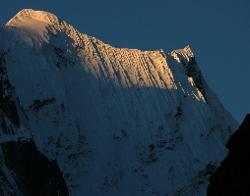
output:
[[8, 0], [0, 23], [23, 8], [53, 12], [116, 47], [190, 44], [210, 87], [241, 121], [250, 112], [249, 0]]

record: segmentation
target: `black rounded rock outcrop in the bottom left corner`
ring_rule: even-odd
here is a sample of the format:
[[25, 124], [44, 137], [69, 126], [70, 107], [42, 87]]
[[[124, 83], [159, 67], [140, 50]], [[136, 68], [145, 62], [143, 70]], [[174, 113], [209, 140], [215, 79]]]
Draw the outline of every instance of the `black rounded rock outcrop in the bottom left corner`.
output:
[[69, 195], [57, 162], [41, 154], [34, 142], [5, 142], [1, 146], [6, 166], [15, 173], [25, 196]]

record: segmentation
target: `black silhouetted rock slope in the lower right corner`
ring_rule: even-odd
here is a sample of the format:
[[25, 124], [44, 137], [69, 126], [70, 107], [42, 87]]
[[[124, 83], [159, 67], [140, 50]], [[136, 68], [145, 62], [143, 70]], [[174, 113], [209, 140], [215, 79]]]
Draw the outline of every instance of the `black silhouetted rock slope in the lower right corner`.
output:
[[229, 154], [210, 178], [208, 196], [250, 195], [250, 114], [227, 143]]

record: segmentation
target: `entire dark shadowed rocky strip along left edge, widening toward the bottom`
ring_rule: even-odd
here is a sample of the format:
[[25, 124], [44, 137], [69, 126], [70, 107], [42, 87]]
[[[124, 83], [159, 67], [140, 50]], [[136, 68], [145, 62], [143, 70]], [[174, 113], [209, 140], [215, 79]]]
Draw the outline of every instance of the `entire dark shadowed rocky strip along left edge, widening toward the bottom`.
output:
[[57, 162], [39, 152], [32, 140], [15, 139], [24, 114], [14, 91], [0, 55], [0, 195], [67, 196]]

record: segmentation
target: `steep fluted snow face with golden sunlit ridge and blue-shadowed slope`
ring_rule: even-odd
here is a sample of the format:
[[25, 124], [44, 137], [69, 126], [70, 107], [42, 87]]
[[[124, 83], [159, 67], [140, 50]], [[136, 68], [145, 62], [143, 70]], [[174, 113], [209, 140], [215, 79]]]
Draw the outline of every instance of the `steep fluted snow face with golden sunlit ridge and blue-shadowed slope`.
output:
[[23, 10], [0, 30], [6, 51], [26, 127], [70, 195], [206, 195], [237, 123], [190, 47], [114, 48]]

